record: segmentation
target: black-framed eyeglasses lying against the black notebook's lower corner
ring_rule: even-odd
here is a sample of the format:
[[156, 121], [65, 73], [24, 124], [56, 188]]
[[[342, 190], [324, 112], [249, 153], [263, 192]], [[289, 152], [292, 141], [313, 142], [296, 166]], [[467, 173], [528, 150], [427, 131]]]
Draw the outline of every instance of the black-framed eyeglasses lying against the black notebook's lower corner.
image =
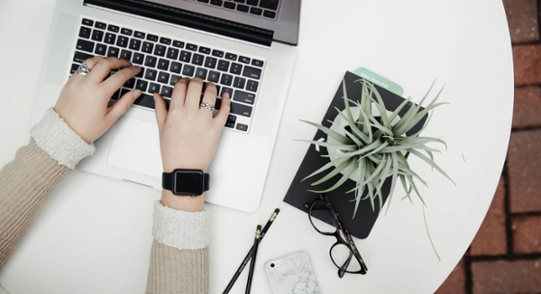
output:
[[[314, 209], [314, 207], [316, 207], [316, 204], [319, 201], [323, 201], [325, 203], [325, 208], [327, 208], [331, 212], [331, 215], [333, 215], [333, 217], [335, 218], [336, 230], [335, 230], [334, 233], [321, 232], [316, 227], [316, 225], [314, 225], [314, 221], [312, 220], [312, 210]], [[325, 208], [320, 208], [320, 209], [325, 209]], [[352, 235], [349, 233], [349, 231], [345, 227], [344, 222], [342, 221], [342, 217], [340, 217], [340, 215], [335, 211], [335, 208], [333, 208], [333, 206], [331, 205], [331, 202], [326, 197], [326, 194], [319, 194], [319, 198], [316, 199], [316, 201], [314, 201], [310, 205], [310, 207], [308, 208], [308, 218], [310, 220], [310, 224], [312, 224], [312, 226], [317, 231], [317, 233], [335, 236], [336, 243], [333, 244], [333, 246], [331, 246], [331, 249], [329, 250], [329, 256], [331, 257], [331, 261], [333, 263], [335, 263], [335, 266], [338, 268], [338, 277], [340, 277], [340, 278], [344, 277], [345, 272], [347, 272], [347, 273], [366, 274], [366, 272], [368, 271], [368, 268], [366, 267], [366, 264], [364, 263], [364, 260], [362, 260], [361, 253], [359, 253], [359, 251], [357, 250], [357, 246], [353, 242]], [[340, 234], [340, 231], [342, 231], [342, 233], [344, 234], [344, 236], [345, 236], [345, 238], [347, 240], [344, 240], [344, 238], [342, 238], [342, 235]], [[344, 245], [350, 250], [349, 256], [348, 256], [347, 260], [344, 262], [344, 264], [342, 266], [336, 264], [335, 260], [333, 259], [333, 254], [332, 254], [333, 248], [335, 248], [335, 246], [337, 246], [337, 245]], [[352, 261], [353, 256], [355, 257], [357, 262], [359, 262], [359, 264], [361, 265], [361, 270], [359, 270], [359, 271], [347, 271], [346, 270], [347, 267], [349, 266], [350, 262]]]

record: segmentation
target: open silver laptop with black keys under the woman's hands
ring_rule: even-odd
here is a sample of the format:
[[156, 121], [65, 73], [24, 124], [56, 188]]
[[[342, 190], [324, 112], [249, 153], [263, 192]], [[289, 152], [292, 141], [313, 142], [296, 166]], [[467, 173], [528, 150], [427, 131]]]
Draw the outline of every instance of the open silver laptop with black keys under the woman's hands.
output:
[[[142, 90], [78, 170], [161, 189], [152, 93], [202, 78], [232, 97], [206, 201], [260, 204], [296, 58], [300, 0], [58, 0], [32, 108], [37, 124], [78, 65], [115, 56], [142, 67], [113, 99]], [[220, 99], [216, 106], [219, 107]]]

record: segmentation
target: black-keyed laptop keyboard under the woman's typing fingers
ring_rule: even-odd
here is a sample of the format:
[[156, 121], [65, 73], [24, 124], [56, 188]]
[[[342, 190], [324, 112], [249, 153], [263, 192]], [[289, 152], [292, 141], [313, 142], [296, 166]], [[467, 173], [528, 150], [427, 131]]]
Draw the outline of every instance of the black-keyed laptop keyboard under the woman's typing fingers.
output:
[[117, 57], [141, 67], [141, 72], [128, 80], [113, 99], [136, 88], [142, 96], [134, 105], [153, 109], [154, 92], [160, 93], [169, 105], [173, 86], [180, 78], [198, 77], [215, 83], [217, 109], [225, 92], [232, 98], [225, 126], [241, 133], [249, 131], [264, 68], [261, 59], [83, 18], [71, 73], [94, 56]]

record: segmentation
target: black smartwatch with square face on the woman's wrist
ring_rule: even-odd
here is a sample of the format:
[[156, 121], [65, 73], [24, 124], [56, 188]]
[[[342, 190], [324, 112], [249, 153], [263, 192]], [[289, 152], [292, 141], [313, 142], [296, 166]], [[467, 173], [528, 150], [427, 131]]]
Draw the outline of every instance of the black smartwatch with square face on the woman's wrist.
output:
[[173, 170], [161, 174], [161, 187], [177, 196], [197, 197], [208, 190], [209, 178], [203, 170]]

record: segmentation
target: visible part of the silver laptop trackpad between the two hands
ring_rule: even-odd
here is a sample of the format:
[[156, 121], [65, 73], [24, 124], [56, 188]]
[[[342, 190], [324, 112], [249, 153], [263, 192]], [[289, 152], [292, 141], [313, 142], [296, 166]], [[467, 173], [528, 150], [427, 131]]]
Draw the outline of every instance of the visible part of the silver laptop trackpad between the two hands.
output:
[[107, 165], [151, 177], [161, 177], [160, 134], [157, 124], [123, 116], [115, 124]]

